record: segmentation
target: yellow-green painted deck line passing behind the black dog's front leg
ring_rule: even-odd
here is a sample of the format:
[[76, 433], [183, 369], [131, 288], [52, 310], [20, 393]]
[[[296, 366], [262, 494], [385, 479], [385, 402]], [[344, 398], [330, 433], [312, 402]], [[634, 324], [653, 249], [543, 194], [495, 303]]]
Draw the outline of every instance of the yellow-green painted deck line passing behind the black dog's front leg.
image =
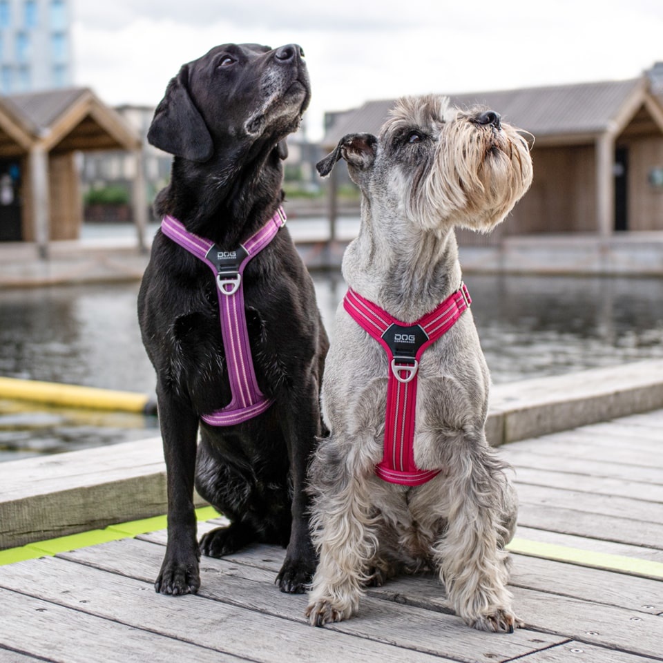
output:
[[[204, 506], [195, 510], [195, 517], [198, 521], [204, 521], [218, 518], [220, 515], [215, 508]], [[103, 530], [90, 530], [68, 537], [35, 541], [35, 543], [20, 546], [19, 548], [0, 550], [0, 566], [14, 564], [17, 561], [26, 561], [26, 559], [36, 559], [37, 557], [52, 557], [58, 553], [66, 553], [69, 550], [76, 550], [77, 548], [87, 548], [88, 546], [96, 546], [97, 544], [107, 544], [109, 541], [137, 537], [148, 532], [164, 530], [166, 529], [166, 524], [166, 516], [156, 516], [128, 523], [109, 525]]]

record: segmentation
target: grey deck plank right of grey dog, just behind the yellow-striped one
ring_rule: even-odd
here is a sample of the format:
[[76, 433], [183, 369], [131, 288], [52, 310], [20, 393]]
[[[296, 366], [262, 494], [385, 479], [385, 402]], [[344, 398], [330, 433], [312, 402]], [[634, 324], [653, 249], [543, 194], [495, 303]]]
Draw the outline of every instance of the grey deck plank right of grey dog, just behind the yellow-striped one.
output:
[[663, 526], [575, 509], [521, 502], [518, 523], [524, 527], [590, 539], [663, 549]]

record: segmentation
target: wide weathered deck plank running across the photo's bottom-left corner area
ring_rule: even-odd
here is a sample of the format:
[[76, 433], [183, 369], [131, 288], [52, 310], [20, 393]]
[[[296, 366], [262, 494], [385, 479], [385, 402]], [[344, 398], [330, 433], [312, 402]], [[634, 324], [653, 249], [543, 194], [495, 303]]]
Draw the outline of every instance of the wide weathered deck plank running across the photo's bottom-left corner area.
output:
[[[40, 582], [43, 580], [39, 579]], [[39, 586], [39, 582], [36, 582], [35, 586]], [[67, 591], [68, 588], [62, 590]], [[0, 604], [3, 612], [0, 619], [0, 644], [28, 651], [47, 661], [240, 661], [234, 656], [202, 646], [180, 642], [157, 633], [146, 633], [126, 624], [94, 617], [83, 611], [71, 610], [2, 588]]]

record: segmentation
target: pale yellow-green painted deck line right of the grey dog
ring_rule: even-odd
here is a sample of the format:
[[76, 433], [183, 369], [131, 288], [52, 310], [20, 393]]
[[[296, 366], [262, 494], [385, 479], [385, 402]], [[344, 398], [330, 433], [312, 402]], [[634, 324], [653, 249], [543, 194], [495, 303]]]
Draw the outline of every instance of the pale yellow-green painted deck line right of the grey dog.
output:
[[647, 578], [663, 579], [663, 564], [659, 561], [639, 559], [637, 557], [626, 557], [625, 555], [611, 555], [609, 553], [597, 553], [594, 550], [583, 550], [582, 548], [571, 548], [559, 546], [558, 544], [545, 544], [541, 541], [530, 541], [515, 537], [506, 546], [510, 553], [528, 555], [530, 557], [541, 557], [554, 561], [564, 561], [568, 564], [579, 566], [590, 566], [602, 570], [616, 571], [628, 575], [640, 575]]

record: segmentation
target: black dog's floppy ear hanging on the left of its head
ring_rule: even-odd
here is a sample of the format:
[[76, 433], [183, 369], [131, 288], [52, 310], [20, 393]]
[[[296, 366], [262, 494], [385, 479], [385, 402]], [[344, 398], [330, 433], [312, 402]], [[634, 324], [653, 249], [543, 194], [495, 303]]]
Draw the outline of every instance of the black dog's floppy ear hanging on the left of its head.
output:
[[213, 153], [212, 137], [188, 90], [186, 65], [168, 84], [166, 94], [154, 111], [148, 142], [169, 154], [204, 163]]

